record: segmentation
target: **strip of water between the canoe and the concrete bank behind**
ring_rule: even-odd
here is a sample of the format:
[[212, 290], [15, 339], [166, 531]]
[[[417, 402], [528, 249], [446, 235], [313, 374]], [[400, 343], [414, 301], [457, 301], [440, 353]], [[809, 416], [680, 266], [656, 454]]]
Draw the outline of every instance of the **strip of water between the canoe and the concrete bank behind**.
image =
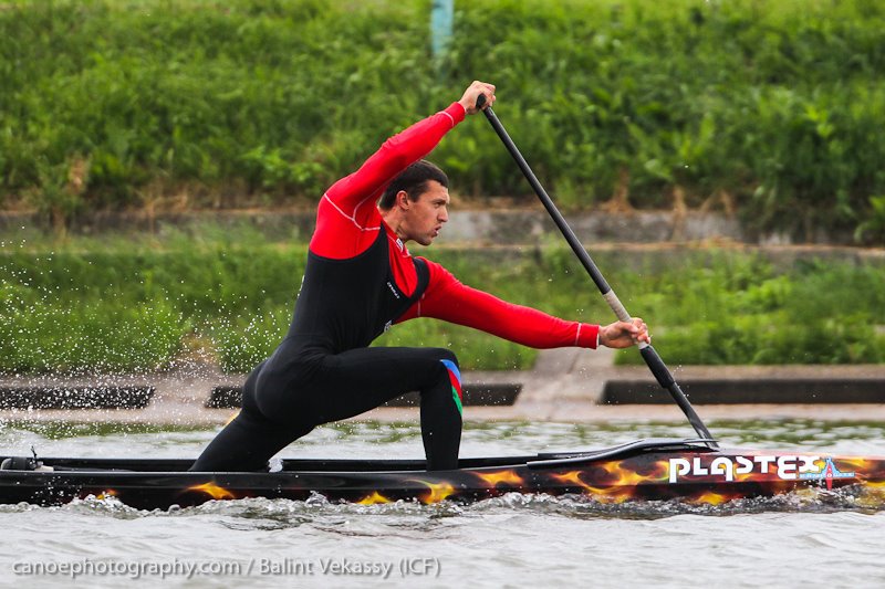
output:
[[[830, 454], [885, 455], [885, 424], [809, 419], [717, 421], [710, 429], [730, 448], [790, 449]], [[41, 455], [195, 457], [217, 429], [121, 423], [0, 422], [0, 451]], [[638, 438], [694, 437], [681, 423], [467, 422], [461, 456], [519, 455], [604, 448]], [[299, 457], [423, 457], [417, 422], [327, 424], [282, 453]]]

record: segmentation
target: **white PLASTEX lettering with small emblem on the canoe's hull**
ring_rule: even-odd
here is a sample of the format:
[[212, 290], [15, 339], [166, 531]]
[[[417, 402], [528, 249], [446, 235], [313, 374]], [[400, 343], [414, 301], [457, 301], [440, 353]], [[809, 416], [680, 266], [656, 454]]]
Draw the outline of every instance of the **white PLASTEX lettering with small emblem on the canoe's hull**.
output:
[[854, 472], [842, 472], [836, 469], [833, 459], [790, 454], [717, 456], [712, 460], [701, 456], [678, 457], [669, 460], [668, 471], [670, 483], [676, 483], [684, 476], [720, 476], [726, 482], [731, 482], [740, 475], [774, 474], [783, 481], [825, 481], [826, 487], [832, 488], [836, 478], [855, 477]]

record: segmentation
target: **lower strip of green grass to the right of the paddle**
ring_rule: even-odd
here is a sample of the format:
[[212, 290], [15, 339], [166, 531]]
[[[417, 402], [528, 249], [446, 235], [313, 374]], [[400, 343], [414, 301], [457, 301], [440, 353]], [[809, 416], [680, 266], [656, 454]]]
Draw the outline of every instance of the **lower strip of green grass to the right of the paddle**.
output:
[[800, 262], [780, 274], [762, 259], [719, 253], [708, 266], [643, 282], [646, 294], [634, 313], [660, 326], [655, 347], [670, 362], [885, 361], [881, 266]]

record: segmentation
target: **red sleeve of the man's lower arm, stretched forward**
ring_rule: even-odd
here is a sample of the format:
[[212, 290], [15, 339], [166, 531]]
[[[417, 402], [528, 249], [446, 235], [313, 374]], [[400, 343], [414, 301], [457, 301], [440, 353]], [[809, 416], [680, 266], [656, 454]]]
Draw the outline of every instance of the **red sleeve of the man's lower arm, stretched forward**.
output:
[[598, 325], [566, 322], [531, 307], [514, 305], [458, 282], [441, 265], [426, 261], [430, 283], [421, 299], [399, 322], [434, 317], [533, 348], [595, 348]]

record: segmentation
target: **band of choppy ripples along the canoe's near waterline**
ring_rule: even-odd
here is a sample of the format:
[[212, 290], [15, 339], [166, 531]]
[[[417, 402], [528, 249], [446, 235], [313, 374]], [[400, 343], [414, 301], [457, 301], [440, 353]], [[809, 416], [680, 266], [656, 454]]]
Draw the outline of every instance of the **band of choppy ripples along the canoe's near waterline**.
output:
[[872, 514], [885, 509], [885, 492], [861, 486], [836, 490], [802, 488], [774, 497], [741, 498], [711, 505], [688, 503], [680, 499], [637, 501], [614, 503], [589, 495], [560, 495], [506, 493], [472, 503], [441, 503], [425, 505], [417, 501], [396, 501], [374, 505], [330, 502], [320, 494], [306, 501], [284, 498], [244, 498], [232, 501], [209, 501], [195, 507], [174, 505], [168, 509], [137, 509], [119, 502], [116, 497], [90, 496], [74, 499], [66, 505], [40, 507], [28, 503], [0, 505], [0, 514], [15, 513], [59, 513], [67, 515], [110, 517], [114, 519], [154, 518], [201, 518], [220, 517], [221, 525], [230, 529], [281, 529], [304, 525], [329, 525], [334, 528], [335, 518], [373, 516], [389, 518], [392, 525], [403, 525], [397, 517], [418, 517], [434, 520], [451, 517], [471, 517], [503, 513], [532, 513], [575, 519], [586, 518], [628, 518], [658, 519], [676, 515], [702, 515], [725, 517], [735, 515], [780, 513], [834, 513], [856, 512]]

